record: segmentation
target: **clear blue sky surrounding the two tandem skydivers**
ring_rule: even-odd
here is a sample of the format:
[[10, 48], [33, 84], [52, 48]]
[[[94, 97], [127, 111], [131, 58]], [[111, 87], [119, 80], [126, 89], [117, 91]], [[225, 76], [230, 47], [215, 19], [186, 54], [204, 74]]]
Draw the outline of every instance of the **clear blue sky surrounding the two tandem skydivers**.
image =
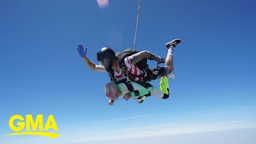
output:
[[[146, 98], [142, 104], [119, 99], [108, 106], [103, 89], [110, 81], [107, 74], [87, 68], [76, 46], [86, 46], [93, 62], [103, 46], [115, 51], [132, 47], [138, 1], [109, 0], [101, 8], [96, 0], [2, 0], [0, 142], [85, 142], [131, 133], [136, 139], [136, 131], [158, 141], [161, 137], [145, 132], [154, 134], [151, 127], [162, 130], [163, 141], [169, 142], [174, 134], [190, 137], [170, 133], [186, 127], [188, 134], [210, 135], [214, 130], [218, 138], [216, 131], [228, 130], [226, 135], [255, 143], [245, 136], [256, 134], [254, 6], [252, 0], [142, 0], [137, 50], [165, 58], [165, 43], [182, 39], [174, 50], [171, 97]], [[14, 114], [53, 114], [62, 136], [6, 137]], [[203, 130], [198, 133], [197, 127]]]

